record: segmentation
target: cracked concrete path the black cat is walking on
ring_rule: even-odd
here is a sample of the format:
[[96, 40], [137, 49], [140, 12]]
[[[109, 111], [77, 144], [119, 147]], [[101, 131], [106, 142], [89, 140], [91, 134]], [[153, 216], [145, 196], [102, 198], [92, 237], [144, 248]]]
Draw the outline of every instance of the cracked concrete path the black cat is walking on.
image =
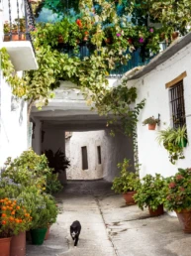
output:
[[[27, 245], [27, 256], [191, 256], [191, 235], [176, 217], [149, 217], [147, 209], [127, 206], [111, 184], [69, 182], [57, 195], [60, 214], [42, 246]], [[69, 226], [82, 225], [73, 246]]]

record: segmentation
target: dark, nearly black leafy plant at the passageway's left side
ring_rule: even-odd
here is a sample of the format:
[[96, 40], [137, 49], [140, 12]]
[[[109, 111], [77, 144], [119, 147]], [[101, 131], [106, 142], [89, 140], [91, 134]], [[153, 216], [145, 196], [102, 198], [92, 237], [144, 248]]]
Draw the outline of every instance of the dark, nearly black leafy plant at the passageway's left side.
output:
[[53, 174], [64, 172], [70, 166], [69, 160], [61, 149], [58, 149], [55, 153], [52, 150], [46, 150], [45, 155], [48, 158], [48, 167], [53, 169]]

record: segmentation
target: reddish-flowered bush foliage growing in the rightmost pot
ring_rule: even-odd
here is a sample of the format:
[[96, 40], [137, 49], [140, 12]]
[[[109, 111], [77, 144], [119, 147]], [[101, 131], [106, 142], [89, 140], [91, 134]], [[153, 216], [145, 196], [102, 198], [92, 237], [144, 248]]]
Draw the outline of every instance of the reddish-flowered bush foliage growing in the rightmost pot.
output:
[[191, 209], [191, 169], [178, 169], [166, 179], [164, 207], [167, 210]]

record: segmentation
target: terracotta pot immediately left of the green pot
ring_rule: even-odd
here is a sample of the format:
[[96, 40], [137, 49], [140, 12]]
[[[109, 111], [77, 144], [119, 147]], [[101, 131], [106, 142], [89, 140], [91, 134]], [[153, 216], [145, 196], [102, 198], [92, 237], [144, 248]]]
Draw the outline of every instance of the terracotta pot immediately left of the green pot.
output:
[[10, 251], [10, 256], [26, 255], [26, 232], [22, 232], [12, 237]]

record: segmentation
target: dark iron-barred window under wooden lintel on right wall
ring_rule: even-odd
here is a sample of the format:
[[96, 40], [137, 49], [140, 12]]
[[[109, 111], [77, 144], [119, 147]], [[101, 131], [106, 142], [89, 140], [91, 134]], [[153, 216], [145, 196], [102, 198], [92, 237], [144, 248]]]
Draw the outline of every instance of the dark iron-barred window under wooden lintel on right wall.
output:
[[182, 127], [186, 123], [183, 80], [171, 86], [169, 93], [173, 127]]

